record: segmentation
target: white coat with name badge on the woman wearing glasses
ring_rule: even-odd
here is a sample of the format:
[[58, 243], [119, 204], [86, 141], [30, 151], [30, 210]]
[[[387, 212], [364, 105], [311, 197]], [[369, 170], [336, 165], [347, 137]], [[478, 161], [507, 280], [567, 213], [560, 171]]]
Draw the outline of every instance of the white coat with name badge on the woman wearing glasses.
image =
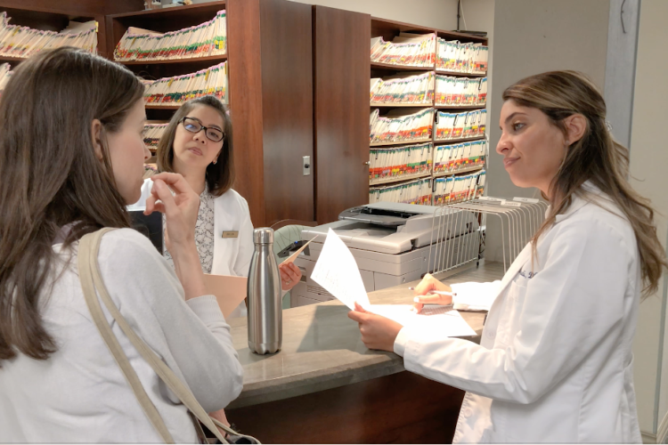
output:
[[[144, 208], [152, 187], [151, 178], [146, 179], [142, 186], [142, 198], [128, 208]], [[236, 231], [238, 235], [236, 238], [223, 238], [224, 231]], [[248, 277], [254, 248], [253, 223], [250, 221], [248, 202], [236, 191], [227, 190], [214, 199], [214, 259], [211, 273]], [[246, 315], [246, 303], [241, 302], [227, 318]]]

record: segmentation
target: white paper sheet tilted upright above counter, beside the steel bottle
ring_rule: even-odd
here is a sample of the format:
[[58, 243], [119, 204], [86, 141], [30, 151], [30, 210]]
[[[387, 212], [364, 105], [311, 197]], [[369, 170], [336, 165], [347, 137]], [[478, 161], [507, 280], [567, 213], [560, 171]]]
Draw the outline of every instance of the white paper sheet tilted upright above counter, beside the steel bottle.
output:
[[357, 302], [369, 310], [371, 303], [354, 256], [331, 229], [311, 278], [350, 309], [354, 309], [354, 302]]

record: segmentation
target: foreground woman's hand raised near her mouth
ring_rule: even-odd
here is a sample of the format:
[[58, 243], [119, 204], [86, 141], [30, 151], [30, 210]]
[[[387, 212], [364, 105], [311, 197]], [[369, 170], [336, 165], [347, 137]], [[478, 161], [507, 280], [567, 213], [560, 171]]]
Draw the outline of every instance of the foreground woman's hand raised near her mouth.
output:
[[[158, 211], [167, 217], [166, 241], [169, 247], [194, 245], [195, 224], [200, 210], [200, 197], [181, 174], [161, 173], [151, 176], [153, 188], [146, 199], [144, 214]], [[175, 194], [172, 195], [171, 190]], [[171, 248], [167, 248], [174, 256]]]

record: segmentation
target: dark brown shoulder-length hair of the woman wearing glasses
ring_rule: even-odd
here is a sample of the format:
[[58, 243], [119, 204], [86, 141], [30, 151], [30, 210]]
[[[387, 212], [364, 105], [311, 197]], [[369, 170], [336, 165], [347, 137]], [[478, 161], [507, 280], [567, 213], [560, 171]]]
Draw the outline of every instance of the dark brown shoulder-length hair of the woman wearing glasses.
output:
[[198, 105], [207, 105], [212, 109], [216, 109], [220, 113], [220, 116], [223, 117], [223, 145], [216, 164], [209, 164], [206, 174], [208, 192], [215, 197], [219, 197], [225, 191], [230, 190], [234, 183], [234, 153], [232, 151], [232, 119], [225, 104], [219, 101], [216, 96], [202, 96], [191, 101], [186, 101], [174, 113], [165, 133], [162, 134], [160, 142], [158, 142], [158, 149], [156, 150], [158, 170], [159, 172], [175, 173], [174, 137], [176, 128], [181, 124], [181, 119], [187, 117], [192, 109]]

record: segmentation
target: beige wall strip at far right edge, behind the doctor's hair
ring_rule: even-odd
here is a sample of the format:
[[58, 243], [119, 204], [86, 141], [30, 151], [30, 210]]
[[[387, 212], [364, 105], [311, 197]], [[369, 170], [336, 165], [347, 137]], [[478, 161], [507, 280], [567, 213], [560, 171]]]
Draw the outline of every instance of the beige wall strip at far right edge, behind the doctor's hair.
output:
[[[657, 218], [658, 236], [663, 242], [668, 236], [665, 217], [668, 215], [668, 176], [665, 174], [668, 147], [663, 127], [668, 103], [665, 75], [668, 72], [668, 59], [665, 57], [665, 48], [668, 46], [666, 20], [668, 2], [642, 0], [631, 125], [631, 184], [639, 193], [650, 198], [656, 210], [663, 214]], [[661, 312], [666, 284], [663, 282], [657, 295], [640, 304], [633, 350], [640, 428], [646, 433], [656, 433], [657, 424], [668, 412], [668, 352], [665, 351], [668, 341], [664, 341], [664, 363], [661, 366], [663, 376], [659, 374]], [[663, 388], [659, 396], [656, 390], [660, 384], [663, 384]]]

